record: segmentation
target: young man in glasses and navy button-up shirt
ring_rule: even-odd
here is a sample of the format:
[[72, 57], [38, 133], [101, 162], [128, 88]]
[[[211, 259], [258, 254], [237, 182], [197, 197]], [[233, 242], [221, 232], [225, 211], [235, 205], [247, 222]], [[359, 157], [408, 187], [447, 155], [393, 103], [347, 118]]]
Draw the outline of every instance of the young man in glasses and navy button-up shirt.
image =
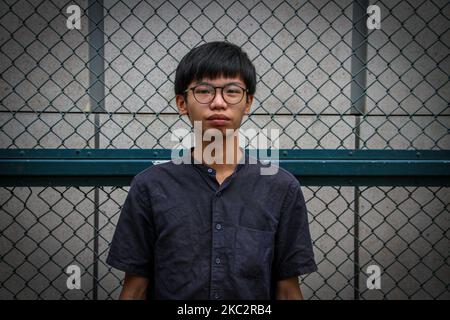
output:
[[303, 298], [298, 276], [317, 267], [299, 182], [281, 168], [262, 175], [238, 143], [255, 88], [255, 68], [233, 44], [181, 60], [179, 112], [223, 144], [206, 152], [213, 141], [196, 137], [191, 163], [133, 179], [107, 259], [126, 273], [120, 299]]

